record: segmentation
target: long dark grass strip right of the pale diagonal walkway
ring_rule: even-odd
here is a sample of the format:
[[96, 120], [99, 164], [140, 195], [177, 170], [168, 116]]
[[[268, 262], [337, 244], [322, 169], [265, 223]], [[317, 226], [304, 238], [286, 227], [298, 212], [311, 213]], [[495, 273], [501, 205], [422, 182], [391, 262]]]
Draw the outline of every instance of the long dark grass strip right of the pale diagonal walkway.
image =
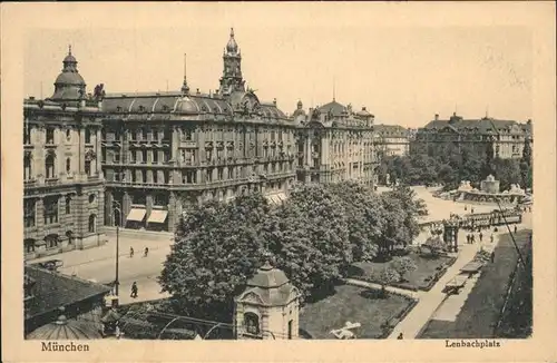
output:
[[[522, 256], [530, 230], [518, 232], [515, 239]], [[495, 249], [495, 263], [487, 264], [455, 322], [431, 320], [420, 334], [422, 339], [495, 337], [495, 328], [507, 297], [510, 277], [518, 255], [510, 236], [501, 236]], [[530, 312], [531, 314], [531, 312]]]

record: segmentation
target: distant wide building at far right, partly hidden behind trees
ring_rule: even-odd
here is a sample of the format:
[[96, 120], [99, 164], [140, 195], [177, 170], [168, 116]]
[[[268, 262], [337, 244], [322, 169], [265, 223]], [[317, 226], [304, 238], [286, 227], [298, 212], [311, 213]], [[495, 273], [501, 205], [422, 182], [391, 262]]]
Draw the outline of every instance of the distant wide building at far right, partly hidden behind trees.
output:
[[519, 159], [526, 140], [531, 145], [531, 120], [520, 124], [489, 117], [465, 119], [457, 114], [448, 120], [441, 120], [436, 115], [432, 121], [418, 130], [411, 149], [434, 156], [466, 145], [481, 155], [491, 148], [494, 157]]

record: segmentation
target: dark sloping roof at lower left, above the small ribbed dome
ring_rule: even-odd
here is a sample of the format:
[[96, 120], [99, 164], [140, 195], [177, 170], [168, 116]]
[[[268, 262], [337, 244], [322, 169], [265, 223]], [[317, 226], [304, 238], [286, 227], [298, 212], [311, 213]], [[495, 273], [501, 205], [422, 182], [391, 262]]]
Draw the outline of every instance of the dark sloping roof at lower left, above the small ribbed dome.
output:
[[27, 278], [32, 278], [33, 300], [29, 304], [28, 317], [50, 313], [94, 296], [102, 296], [110, 287], [56, 272], [26, 266]]

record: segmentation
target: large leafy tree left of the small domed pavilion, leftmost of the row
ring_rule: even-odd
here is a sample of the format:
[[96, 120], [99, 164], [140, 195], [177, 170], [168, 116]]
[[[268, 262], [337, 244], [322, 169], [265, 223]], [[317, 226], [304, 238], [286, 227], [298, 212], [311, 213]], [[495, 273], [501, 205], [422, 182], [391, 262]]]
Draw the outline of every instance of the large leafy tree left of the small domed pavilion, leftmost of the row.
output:
[[248, 195], [195, 206], [179, 220], [158, 282], [180, 312], [214, 317], [232, 311], [233, 297], [263, 263], [258, 226], [270, 209], [261, 195]]

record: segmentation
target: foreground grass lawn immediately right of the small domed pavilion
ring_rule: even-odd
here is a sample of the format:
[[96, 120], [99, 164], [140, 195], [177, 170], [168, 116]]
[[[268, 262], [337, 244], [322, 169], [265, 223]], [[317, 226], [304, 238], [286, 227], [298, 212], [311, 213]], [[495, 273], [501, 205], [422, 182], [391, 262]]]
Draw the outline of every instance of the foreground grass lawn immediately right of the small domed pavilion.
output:
[[300, 328], [312, 339], [335, 339], [329, 332], [344, 326], [346, 322], [361, 323], [354, 328], [358, 339], [383, 337], [382, 324], [402, 315], [413, 300], [389, 294], [379, 297], [378, 291], [340, 285], [335, 294], [309, 304], [300, 314]]

